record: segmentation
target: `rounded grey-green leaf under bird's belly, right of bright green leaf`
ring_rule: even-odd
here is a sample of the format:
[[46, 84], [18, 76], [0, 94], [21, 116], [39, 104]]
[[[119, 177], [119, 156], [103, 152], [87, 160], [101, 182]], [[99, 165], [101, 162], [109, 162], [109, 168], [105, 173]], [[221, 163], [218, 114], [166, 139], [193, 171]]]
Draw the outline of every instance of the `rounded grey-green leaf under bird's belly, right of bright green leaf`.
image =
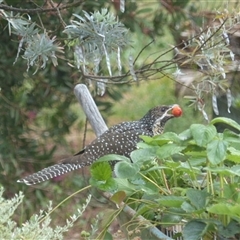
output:
[[134, 164], [128, 162], [118, 162], [114, 166], [114, 172], [119, 178], [134, 178], [138, 170]]

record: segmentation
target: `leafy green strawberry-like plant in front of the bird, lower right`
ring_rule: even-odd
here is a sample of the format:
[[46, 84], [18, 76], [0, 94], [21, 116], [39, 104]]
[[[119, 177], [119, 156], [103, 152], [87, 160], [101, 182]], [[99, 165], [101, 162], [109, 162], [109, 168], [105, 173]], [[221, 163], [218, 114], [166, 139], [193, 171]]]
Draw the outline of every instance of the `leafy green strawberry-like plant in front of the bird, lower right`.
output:
[[240, 136], [228, 129], [218, 133], [216, 122], [240, 128], [233, 120], [219, 117], [207, 126], [193, 124], [178, 135], [143, 136], [145, 143], [132, 152], [131, 165], [129, 159], [112, 156], [119, 160], [116, 178], [109, 171], [105, 183], [115, 182], [114, 188], [108, 185], [114, 201], [118, 193], [123, 200], [125, 193], [125, 202], [137, 215], [161, 228], [183, 225], [178, 236], [187, 240], [239, 236]]

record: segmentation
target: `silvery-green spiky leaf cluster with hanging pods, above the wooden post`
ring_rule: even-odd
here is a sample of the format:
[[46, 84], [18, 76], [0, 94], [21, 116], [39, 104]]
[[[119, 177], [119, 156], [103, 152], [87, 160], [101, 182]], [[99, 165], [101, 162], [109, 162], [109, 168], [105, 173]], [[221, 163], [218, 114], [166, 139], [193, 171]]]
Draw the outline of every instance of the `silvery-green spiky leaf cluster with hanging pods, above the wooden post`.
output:
[[[66, 26], [64, 32], [71, 39], [68, 45], [75, 47], [74, 56], [77, 67], [81, 66], [85, 74], [93, 71], [95, 75], [99, 75], [99, 66], [105, 56], [108, 73], [112, 76], [110, 56], [114, 53], [121, 74], [120, 52], [123, 47], [129, 45], [126, 36], [128, 30], [125, 26], [107, 9], [93, 14], [84, 11], [84, 17], [77, 14], [74, 16], [79, 21], [71, 20], [72, 24]], [[91, 66], [91, 63], [94, 65]]]

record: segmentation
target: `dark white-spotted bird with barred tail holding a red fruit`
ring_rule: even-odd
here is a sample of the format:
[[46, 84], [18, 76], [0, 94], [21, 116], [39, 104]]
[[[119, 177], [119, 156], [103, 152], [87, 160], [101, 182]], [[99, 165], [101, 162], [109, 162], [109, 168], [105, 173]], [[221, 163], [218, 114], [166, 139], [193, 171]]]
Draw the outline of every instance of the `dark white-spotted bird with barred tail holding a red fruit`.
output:
[[140, 135], [155, 136], [161, 134], [168, 120], [182, 115], [177, 104], [160, 105], [150, 109], [140, 120], [122, 122], [112, 126], [75, 155], [60, 160], [59, 163], [28, 175], [17, 182], [32, 185], [61, 176], [93, 164], [107, 154], [130, 157], [141, 141]]

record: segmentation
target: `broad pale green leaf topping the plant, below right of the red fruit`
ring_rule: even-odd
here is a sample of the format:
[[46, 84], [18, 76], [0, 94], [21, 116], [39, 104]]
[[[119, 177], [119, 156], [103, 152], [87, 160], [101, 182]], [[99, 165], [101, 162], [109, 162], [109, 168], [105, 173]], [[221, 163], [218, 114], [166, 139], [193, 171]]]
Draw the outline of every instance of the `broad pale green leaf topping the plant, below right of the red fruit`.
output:
[[216, 128], [213, 125], [192, 124], [190, 130], [194, 141], [200, 147], [206, 146], [217, 135]]

